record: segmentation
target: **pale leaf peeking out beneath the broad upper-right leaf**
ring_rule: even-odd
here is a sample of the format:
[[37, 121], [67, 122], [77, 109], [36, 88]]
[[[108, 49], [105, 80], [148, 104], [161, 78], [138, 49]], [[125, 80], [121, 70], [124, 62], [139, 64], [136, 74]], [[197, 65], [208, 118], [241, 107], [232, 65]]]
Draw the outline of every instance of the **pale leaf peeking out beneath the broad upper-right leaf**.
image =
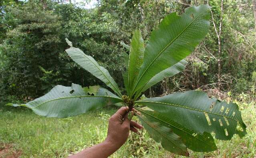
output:
[[149, 89], [151, 86], [155, 85], [156, 83], [162, 81], [165, 77], [172, 77], [173, 75], [183, 71], [185, 69], [185, 66], [187, 64], [187, 61], [181, 60], [178, 63], [172, 65], [171, 67], [157, 73], [154, 77], [152, 77], [139, 91], [136, 92], [135, 100], [141, 92], [146, 91]]

